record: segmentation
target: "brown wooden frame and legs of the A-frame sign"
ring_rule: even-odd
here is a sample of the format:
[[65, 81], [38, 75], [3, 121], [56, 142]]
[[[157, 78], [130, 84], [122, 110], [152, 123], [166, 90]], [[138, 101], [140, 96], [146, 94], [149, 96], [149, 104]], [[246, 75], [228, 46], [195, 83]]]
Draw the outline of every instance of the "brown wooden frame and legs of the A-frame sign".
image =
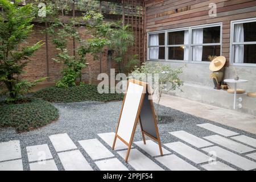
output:
[[[123, 139], [122, 137], [120, 137], [118, 135], [118, 128], [119, 128], [119, 124], [120, 124], [120, 121], [121, 121], [121, 116], [122, 116], [122, 112], [123, 112], [123, 106], [125, 105], [126, 94], [127, 94], [127, 90], [129, 88], [129, 83], [130, 82], [143, 86], [143, 92], [142, 92], [141, 100], [139, 102], [139, 107], [138, 107], [137, 115], [136, 115], [136, 118], [135, 118], [133, 130], [132, 130], [132, 133], [131, 133], [131, 138], [130, 138], [130, 141], [127, 142], [125, 139]], [[141, 122], [140, 114], [141, 114], [142, 104], [143, 104], [143, 101], [144, 101], [144, 98], [145, 98], [144, 96], [145, 96], [146, 93], [148, 93], [148, 90], [149, 90], [149, 85], [146, 82], [142, 82], [142, 81], [138, 81], [138, 80], [129, 80], [128, 83], [127, 83], [126, 93], [125, 93], [125, 97], [123, 98], [123, 103], [122, 103], [122, 107], [121, 107], [121, 113], [119, 115], [117, 128], [115, 130], [114, 142], [113, 142], [113, 146], [112, 146], [112, 149], [114, 150], [115, 142], [116, 142], [117, 138], [120, 139], [123, 143], [125, 143], [128, 146], [128, 150], [127, 150], [127, 154], [126, 154], [126, 158], [125, 158], [125, 162], [126, 163], [127, 163], [128, 158], [129, 158], [129, 154], [130, 154], [130, 150], [131, 150], [131, 144], [133, 143], [134, 134], [135, 134], [138, 122], [139, 122], [139, 124], [141, 126], [143, 143], [146, 144], [145, 135], [147, 135], [148, 137], [154, 139], [156, 142], [158, 142], [159, 150], [160, 150], [160, 155], [163, 155], [162, 145], [161, 145], [161, 142], [160, 142], [159, 131], [158, 131], [158, 122], [157, 122], [157, 119], [156, 119], [155, 109], [154, 109], [154, 105], [153, 105], [153, 101], [152, 100], [148, 100], [148, 101], [150, 102], [150, 107], [151, 107], [151, 110], [152, 110], [152, 117], [154, 118], [156, 137], [154, 137], [151, 134], [149, 134], [146, 131], [144, 131], [143, 127], [142, 127], [142, 122]], [[148, 95], [151, 96], [151, 93], [148, 93]]]

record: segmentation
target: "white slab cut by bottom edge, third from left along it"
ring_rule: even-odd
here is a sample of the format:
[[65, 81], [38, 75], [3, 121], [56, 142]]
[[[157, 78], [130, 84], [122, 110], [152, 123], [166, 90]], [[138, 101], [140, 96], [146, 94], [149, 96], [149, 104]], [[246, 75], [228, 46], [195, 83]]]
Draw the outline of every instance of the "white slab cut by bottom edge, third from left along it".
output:
[[92, 171], [92, 167], [79, 150], [58, 153], [66, 171]]

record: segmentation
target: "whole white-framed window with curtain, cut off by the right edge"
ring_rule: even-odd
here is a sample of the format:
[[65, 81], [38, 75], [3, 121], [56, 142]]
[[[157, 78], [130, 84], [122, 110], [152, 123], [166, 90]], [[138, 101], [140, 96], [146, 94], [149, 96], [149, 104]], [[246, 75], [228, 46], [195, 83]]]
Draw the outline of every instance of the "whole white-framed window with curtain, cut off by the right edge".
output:
[[256, 18], [230, 24], [230, 64], [256, 66]]

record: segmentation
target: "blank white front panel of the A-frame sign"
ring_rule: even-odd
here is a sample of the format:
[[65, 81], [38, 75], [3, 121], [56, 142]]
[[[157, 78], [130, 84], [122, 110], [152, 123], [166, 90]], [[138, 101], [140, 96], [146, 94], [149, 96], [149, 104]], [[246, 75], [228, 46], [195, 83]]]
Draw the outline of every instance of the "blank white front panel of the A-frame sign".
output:
[[134, 123], [139, 109], [139, 103], [143, 94], [144, 87], [142, 85], [129, 82], [126, 92], [125, 103], [122, 109], [117, 135], [130, 143], [131, 134], [133, 133]]

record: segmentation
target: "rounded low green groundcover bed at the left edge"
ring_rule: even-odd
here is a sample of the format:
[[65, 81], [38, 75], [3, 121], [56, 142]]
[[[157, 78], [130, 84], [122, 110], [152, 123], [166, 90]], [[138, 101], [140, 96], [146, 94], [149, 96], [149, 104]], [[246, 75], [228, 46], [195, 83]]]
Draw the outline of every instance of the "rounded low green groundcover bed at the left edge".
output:
[[0, 127], [14, 127], [16, 131], [30, 131], [59, 118], [59, 111], [51, 103], [36, 98], [20, 104], [0, 104]]

